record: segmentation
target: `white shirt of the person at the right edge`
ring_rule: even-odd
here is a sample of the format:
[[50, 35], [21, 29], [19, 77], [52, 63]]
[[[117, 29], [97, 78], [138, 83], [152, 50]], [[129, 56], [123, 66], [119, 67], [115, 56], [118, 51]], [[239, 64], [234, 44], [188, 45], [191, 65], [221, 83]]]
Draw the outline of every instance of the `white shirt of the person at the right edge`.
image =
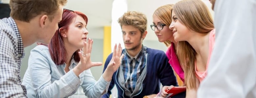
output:
[[256, 98], [256, 0], [216, 0], [216, 43], [198, 98]]

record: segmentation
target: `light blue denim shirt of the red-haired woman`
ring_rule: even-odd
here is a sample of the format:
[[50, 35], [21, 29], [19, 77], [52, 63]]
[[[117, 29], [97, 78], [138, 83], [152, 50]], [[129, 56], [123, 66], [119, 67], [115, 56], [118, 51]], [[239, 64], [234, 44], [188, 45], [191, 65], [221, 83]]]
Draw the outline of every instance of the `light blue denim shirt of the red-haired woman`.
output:
[[89, 98], [100, 98], [106, 94], [110, 82], [105, 81], [102, 75], [95, 81], [90, 69], [81, 73], [79, 78], [72, 70], [76, 65], [77, 62], [72, 59], [70, 71], [66, 73], [66, 64], [57, 66], [51, 59], [48, 47], [36, 46], [30, 52], [28, 69], [22, 82], [27, 88], [28, 98], [67, 98], [73, 95], [79, 86]]

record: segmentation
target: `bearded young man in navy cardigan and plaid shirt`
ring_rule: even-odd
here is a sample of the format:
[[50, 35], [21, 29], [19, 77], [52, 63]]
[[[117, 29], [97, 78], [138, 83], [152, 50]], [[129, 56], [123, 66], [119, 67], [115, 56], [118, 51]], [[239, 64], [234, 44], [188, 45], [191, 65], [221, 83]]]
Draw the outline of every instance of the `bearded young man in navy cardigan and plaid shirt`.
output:
[[[124, 57], [119, 69], [112, 76], [108, 93], [103, 98], [109, 98], [114, 85], [118, 90], [118, 98], [142, 98], [145, 95], [157, 94], [160, 83], [163, 86], [178, 86], [166, 54], [142, 45], [147, 35], [146, 16], [140, 12], [127, 11], [118, 19], [118, 23], [125, 44], [125, 49], [122, 50]], [[111, 57], [112, 54], [108, 56], [103, 72]]]

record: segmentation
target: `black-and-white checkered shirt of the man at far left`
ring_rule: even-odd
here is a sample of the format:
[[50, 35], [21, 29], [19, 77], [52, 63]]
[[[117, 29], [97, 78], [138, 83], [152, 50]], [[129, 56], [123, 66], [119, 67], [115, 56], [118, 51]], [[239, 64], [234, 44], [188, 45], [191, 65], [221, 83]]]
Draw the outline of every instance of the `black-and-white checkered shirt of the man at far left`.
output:
[[25, 56], [22, 39], [13, 18], [0, 20], [0, 98], [26, 97], [21, 85], [21, 59]]

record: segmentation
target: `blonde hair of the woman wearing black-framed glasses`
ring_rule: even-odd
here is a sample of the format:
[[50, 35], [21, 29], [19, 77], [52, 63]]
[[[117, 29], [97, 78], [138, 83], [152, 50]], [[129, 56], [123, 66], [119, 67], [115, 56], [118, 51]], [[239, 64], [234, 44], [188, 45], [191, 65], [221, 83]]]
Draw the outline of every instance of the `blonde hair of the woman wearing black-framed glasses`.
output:
[[[155, 10], [153, 16], [156, 15], [159, 19], [163, 21], [164, 24], [169, 26], [171, 24], [171, 10], [173, 6], [173, 4], [161, 6]], [[169, 40], [165, 41], [164, 43], [167, 47], [171, 45], [171, 41]]]

